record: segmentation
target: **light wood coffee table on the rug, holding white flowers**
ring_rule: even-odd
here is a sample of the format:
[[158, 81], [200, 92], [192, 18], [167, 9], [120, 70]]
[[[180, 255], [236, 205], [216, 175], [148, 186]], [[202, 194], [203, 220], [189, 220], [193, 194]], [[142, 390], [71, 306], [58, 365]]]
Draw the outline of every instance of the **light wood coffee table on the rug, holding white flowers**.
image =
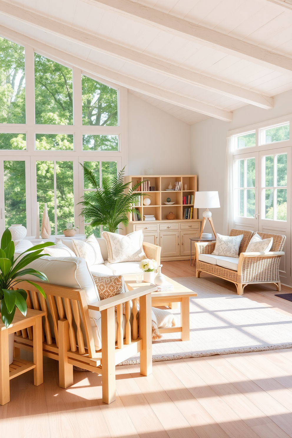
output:
[[[123, 276], [129, 290], [133, 290], [141, 286], [149, 286], [150, 283], [137, 283], [136, 275], [130, 274]], [[182, 284], [177, 283], [169, 277], [165, 276], [165, 280], [172, 283], [174, 290], [166, 292], [152, 292], [151, 306], [170, 306], [172, 303], [180, 303], [180, 326], [167, 327], [159, 329], [159, 333], [176, 333], [180, 332], [182, 341], [190, 340], [190, 297], [197, 297], [197, 293], [188, 289]]]

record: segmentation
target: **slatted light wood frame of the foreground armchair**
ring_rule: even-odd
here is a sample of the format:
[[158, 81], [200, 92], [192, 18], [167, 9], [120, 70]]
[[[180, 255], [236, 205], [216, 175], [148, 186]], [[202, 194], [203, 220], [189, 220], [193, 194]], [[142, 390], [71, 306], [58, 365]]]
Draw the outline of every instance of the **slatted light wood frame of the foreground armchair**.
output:
[[[19, 288], [28, 293], [27, 305], [46, 312], [42, 329], [42, 354], [59, 361], [59, 386], [73, 384], [73, 365], [102, 374], [102, 401], [116, 399], [115, 366], [128, 357], [140, 353], [140, 372], [152, 372], [151, 292], [155, 286], [142, 286], [106, 300], [87, 304], [84, 290], [53, 284], [38, 283], [46, 299], [25, 280]], [[140, 324], [137, 329], [137, 298], [140, 299]], [[133, 300], [133, 324], [130, 325], [130, 300]], [[126, 337], [124, 339], [123, 303], [126, 309]], [[115, 306], [117, 306], [117, 343], [115, 342]], [[102, 348], [95, 351], [89, 311], [101, 312]], [[50, 322], [53, 321], [53, 329]], [[32, 328], [17, 332], [14, 337], [15, 355], [19, 350], [32, 349]]]

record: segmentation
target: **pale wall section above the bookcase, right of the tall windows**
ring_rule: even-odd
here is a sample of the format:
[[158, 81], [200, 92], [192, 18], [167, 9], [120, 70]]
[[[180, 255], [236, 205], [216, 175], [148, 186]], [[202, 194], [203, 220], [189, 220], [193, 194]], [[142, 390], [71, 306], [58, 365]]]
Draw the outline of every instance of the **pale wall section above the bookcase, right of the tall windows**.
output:
[[128, 93], [127, 175], [190, 174], [190, 125]]

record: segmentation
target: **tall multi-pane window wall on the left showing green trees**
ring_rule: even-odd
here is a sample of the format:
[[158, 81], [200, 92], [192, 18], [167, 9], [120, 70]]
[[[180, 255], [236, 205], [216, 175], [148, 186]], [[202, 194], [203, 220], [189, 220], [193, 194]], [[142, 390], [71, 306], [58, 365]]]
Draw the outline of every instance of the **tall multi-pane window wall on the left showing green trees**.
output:
[[[27, 84], [25, 71], [34, 76]], [[0, 232], [22, 223], [34, 235], [39, 202], [41, 217], [47, 204], [52, 234], [69, 222], [100, 236], [101, 227], [79, 217], [84, 191], [92, 191], [80, 164], [100, 187], [127, 164], [119, 111], [126, 91], [0, 37]]]

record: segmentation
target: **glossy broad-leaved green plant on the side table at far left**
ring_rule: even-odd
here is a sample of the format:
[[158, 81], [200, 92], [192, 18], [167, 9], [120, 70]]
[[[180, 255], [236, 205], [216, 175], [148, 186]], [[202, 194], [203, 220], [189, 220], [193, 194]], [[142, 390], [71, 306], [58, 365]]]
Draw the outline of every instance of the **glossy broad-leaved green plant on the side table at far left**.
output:
[[[34, 247], [23, 251], [14, 260], [15, 247], [14, 241], [11, 240], [11, 232], [8, 229], [4, 231], [1, 238], [0, 246], [0, 311], [1, 319], [6, 327], [8, 327], [13, 321], [16, 307], [21, 311], [23, 315], [26, 315], [27, 311], [27, 293], [25, 292], [25, 290], [11, 289], [13, 287], [17, 287], [17, 284], [23, 281], [21, 279], [18, 279], [18, 277], [24, 275], [32, 275], [42, 281], [49, 281], [46, 275], [42, 272], [36, 271], [32, 268], [23, 268], [25, 268], [25, 266], [27, 266], [29, 263], [36, 260], [37, 258], [40, 258], [43, 255], [49, 255], [41, 254], [41, 252], [43, 248], [51, 245], [55, 244], [53, 242], [46, 242], [44, 244], [35, 245]], [[23, 254], [25, 255], [21, 258]], [[18, 259], [20, 260], [18, 261]], [[32, 281], [26, 281], [35, 286], [39, 290], [39, 292], [46, 298], [46, 294], [41, 286], [33, 283]]]

